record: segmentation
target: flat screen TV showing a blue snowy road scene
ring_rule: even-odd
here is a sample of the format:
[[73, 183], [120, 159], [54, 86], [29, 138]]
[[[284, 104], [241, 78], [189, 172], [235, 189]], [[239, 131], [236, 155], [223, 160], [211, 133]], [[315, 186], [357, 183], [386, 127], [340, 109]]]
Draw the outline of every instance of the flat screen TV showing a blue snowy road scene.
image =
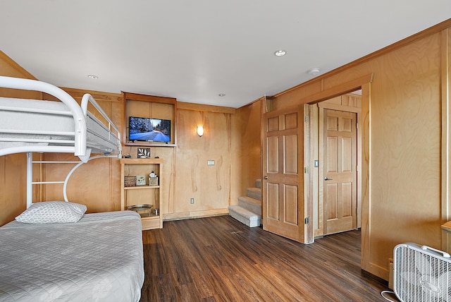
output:
[[171, 120], [130, 116], [128, 139], [143, 142], [171, 142]]

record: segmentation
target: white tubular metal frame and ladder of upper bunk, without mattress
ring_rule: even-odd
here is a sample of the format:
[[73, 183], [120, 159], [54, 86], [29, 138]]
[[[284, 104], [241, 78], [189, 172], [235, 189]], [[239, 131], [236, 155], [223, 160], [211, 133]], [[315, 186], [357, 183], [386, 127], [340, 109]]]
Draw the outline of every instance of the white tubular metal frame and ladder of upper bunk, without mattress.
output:
[[[0, 111], [20, 111], [20, 112], [30, 112], [35, 114], [50, 114], [50, 115], [66, 115], [73, 116], [73, 125], [74, 131], [21, 131], [16, 129], [0, 129], [0, 141], [8, 143], [18, 143], [25, 142], [28, 145], [22, 146], [13, 146], [13, 147], [3, 147], [0, 148], [0, 156], [9, 155], [13, 153], [26, 153], [27, 154], [27, 208], [32, 205], [32, 185], [39, 183], [63, 183], [63, 195], [64, 200], [68, 201], [66, 188], [67, 183], [70, 176], [73, 174], [75, 169], [80, 167], [81, 164], [89, 162], [89, 160], [102, 158], [102, 157], [117, 157], [121, 158], [121, 131], [119, 131], [118, 127], [109, 119], [109, 116], [106, 115], [103, 109], [97, 104], [95, 99], [86, 94], [82, 97], [82, 102], [79, 105], [73, 97], [71, 97], [67, 92], [62, 90], [59, 87], [51, 85], [49, 83], [44, 83], [39, 80], [29, 80], [23, 78], [11, 78], [6, 76], [0, 76], [0, 87], [4, 88], [12, 88], [18, 90], [33, 90], [38, 92], [45, 92], [49, 95], [53, 95], [57, 99], [61, 100], [68, 107], [69, 111], [61, 112], [52, 109], [39, 109], [39, 108], [26, 108], [26, 107], [11, 107], [11, 106], [2, 106], [0, 105]], [[108, 131], [109, 142], [115, 142], [116, 151], [118, 155], [111, 155], [111, 147], [106, 147], [104, 150], [104, 155], [97, 155], [91, 157], [92, 147], [88, 147], [87, 145], [87, 106], [88, 103], [91, 103], [97, 111], [101, 114], [103, 119], [105, 119], [108, 125], [104, 125], [97, 119], [90, 119], [90, 121], [94, 122], [94, 125], [97, 124], [103, 128], [106, 128]], [[104, 130], [106, 130], [104, 129]], [[113, 133], [112, 131], [115, 131]], [[1, 133], [8, 134], [35, 134], [35, 135], [68, 135], [73, 136], [73, 140], [55, 140], [55, 139], [41, 139], [41, 138], [2, 138]], [[95, 135], [95, 133], [94, 133]], [[99, 136], [99, 140], [102, 138]], [[44, 144], [58, 144], [61, 145], [42, 145]], [[34, 144], [34, 145], [30, 145]], [[95, 150], [99, 151], [102, 148], [101, 143], [95, 144]], [[61, 152], [61, 153], [73, 153], [75, 156], [80, 158], [80, 162], [49, 162], [49, 161], [37, 161], [33, 162], [32, 153], [33, 152]], [[32, 181], [32, 165], [37, 163], [44, 164], [62, 164], [62, 163], [71, 163], [76, 164], [72, 170], [70, 170], [69, 174], [66, 176], [64, 181], [42, 181], [42, 182], [33, 182]]]

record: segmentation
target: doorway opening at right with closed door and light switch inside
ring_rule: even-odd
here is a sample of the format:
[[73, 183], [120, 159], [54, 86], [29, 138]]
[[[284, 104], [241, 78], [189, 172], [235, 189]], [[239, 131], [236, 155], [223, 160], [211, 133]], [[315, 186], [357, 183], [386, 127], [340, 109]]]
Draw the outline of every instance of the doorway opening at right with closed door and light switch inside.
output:
[[307, 104], [308, 203], [314, 237], [358, 229], [362, 225], [361, 91]]

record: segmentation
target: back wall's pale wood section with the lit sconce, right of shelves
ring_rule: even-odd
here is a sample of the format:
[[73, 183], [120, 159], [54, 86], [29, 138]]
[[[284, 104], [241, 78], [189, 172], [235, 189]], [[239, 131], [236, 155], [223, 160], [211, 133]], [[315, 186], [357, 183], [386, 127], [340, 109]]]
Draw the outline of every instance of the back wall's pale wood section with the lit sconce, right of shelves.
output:
[[[178, 214], [167, 217], [228, 213], [230, 114], [178, 110], [177, 122], [174, 213]], [[198, 125], [204, 125], [202, 137], [196, 133]], [[214, 166], [207, 166], [208, 160], [214, 160]]]

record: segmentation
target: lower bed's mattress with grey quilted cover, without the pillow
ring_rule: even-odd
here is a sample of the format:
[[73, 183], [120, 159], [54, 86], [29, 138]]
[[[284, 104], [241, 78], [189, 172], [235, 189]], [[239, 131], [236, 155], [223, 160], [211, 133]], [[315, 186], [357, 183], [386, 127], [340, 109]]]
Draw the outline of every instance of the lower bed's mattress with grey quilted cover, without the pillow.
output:
[[0, 301], [139, 301], [140, 215], [85, 214], [68, 224], [0, 227]]

